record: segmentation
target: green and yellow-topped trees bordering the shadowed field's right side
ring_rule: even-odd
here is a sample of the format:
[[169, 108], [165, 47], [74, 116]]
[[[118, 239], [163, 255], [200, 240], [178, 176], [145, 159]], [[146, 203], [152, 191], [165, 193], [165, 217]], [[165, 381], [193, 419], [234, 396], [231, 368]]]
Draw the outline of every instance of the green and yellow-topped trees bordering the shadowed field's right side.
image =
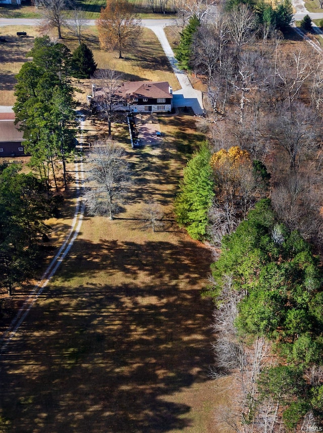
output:
[[217, 305], [211, 374], [235, 380], [220, 427], [314, 431], [323, 419], [323, 273], [300, 231], [259, 200], [269, 190], [270, 174], [247, 151], [211, 152], [205, 142], [184, 169], [175, 211], [192, 237], [221, 247], [204, 294]]

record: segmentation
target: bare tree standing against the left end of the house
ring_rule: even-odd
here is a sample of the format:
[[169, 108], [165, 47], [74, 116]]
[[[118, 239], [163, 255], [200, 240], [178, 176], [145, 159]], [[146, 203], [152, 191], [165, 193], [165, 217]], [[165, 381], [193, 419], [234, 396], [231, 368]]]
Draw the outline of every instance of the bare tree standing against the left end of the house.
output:
[[115, 118], [116, 110], [122, 104], [122, 99], [118, 94], [118, 90], [122, 86], [122, 79], [122, 73], [112, 69], [98, 69], [94, 74], [95, 103], [107, 119], [109, 137], [111, 137], [111, 124]]

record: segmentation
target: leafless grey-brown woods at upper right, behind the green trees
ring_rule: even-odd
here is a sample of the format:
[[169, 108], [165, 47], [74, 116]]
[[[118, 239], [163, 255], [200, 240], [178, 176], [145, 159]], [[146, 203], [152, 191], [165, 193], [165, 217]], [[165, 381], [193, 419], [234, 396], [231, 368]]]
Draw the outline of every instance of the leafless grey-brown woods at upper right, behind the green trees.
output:
[[[283, 7], [287, 8], [285, 3]], [[263, 11], [270, 6], [261, 8], [266, 16]], [[235, 6], [230, 14], [224, 9], [212, 23], [198, 21], [185, 60], [207, 89], [206, 115], [197, 120], [196, 126], [207, 137], [210, 157], [238, 146], [248, 153], [253, 169], [257, 166], [259, 173], [254, 177], [252, 170], [244, 170], [249, 180], [245, 177], [245, 185], [239, 187], [242, 209], [232, 175], [230, 193], [223, 170], [214, 171], [212, 181], [219, 194], [214, 195], [211, 207], [204, 209], [206, 224], [195, 237], [207, 233], [219, 243], [264, 193], [254, 190], [254, 180], [264, 175], [268, 182], [266, 170], [271, 174], [267, 186], [279, 218], [320, 251], [323, 56], [313, 53], [304, 42], [288, 44], [272, 22], [259, 25], [255, 10], [248, 5]], [[245, 163], [239, 167], [246, 168]], [[263, 180], [256, 182], [258, 189], [264, 186]], [[264, 194], [269, 194], [269, 189]], [[187, 224], [185, 218], [179, 221]]]

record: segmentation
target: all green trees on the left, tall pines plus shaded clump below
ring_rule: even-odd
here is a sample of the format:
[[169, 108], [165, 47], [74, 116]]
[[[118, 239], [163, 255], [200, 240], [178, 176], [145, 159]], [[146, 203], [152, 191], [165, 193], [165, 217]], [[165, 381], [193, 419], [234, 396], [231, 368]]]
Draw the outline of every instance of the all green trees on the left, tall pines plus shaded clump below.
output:
[[0, 166], [0, 286], [9, 295], [37, 274], [45, 253], [43, 240], [48, 240], [50, 231], [44, 221], [59, 215], [61, 176], [67, 187], [66, 162], [75, 149], [71, 76], [89, 75], [95, 69], [83, 45], [72, 55], [67, 46], [51, 42], [48, 36], [35, 38], [28, 53], [32, 61], [17, 75], [14, 112], [33, 172], [21, 173], [20, 164]]

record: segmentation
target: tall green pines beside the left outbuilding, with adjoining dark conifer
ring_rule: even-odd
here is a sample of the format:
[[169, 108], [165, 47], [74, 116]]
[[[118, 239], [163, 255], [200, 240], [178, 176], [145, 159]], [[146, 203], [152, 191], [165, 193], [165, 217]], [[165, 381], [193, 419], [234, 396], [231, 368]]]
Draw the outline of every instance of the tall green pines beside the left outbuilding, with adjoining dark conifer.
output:
[[[57, 166], [63, 169], [67, 187], [66, 160], [75, 148], [75, 102], [71, 75], [94, 72], [96, 65], [87, 47], [81, 44], [73, 56], [66, 45], [53, 43], [48, 36], [35, 39], [17, 75], [14, 106], [17, 122], [24, 131], [23, 145], [30, 153], [30, 165], [47, 186], [52, 178], [56, 188]], [[92, 61], [92, 62], [91, 62]]]

